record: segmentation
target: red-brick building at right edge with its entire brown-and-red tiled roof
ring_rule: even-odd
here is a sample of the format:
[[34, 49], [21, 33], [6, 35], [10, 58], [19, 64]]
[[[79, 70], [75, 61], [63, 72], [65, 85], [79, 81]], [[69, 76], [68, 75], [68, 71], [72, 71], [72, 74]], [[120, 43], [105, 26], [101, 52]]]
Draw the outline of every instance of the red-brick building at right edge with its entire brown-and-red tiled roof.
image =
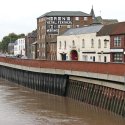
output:
[[125, 22], [104, 26], [98, 36], [110, 35], [110, 61], [125, 62]]

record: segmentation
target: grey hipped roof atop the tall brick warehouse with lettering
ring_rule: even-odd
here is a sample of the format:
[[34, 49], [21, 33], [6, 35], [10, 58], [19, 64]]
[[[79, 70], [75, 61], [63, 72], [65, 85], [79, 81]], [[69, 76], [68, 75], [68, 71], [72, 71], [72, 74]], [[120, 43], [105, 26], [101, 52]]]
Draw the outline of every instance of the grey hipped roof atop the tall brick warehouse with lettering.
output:
[[51, 11], [38, 17], [50, 17], [50, 16], [91, 16], [90, 14], [84, 13], [82, 11]]

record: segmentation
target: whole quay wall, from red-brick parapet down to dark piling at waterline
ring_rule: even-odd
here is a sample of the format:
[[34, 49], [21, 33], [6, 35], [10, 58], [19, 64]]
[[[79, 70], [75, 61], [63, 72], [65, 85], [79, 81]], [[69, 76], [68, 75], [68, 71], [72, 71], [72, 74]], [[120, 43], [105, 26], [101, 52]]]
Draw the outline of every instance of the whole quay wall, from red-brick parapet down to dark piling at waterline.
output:
[[[70, 97], [125, 117], [124, 66], [0, 58], [0, 77], [31, 89]], [[101, 67], [105, 67], [110, 74], [106, 74], [106, 70], [103, 71]], [[122, 70], [117, 72], [117, 68]]]

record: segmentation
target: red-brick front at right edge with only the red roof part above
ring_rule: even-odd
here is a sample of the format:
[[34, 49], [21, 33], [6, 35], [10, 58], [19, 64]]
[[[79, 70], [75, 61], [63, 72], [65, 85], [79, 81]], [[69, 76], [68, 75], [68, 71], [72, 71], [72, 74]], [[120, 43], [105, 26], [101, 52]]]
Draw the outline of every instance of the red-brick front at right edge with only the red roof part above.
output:
[[125, 22], [117, 24], [110, 38], [111, 62], [125, 62]]

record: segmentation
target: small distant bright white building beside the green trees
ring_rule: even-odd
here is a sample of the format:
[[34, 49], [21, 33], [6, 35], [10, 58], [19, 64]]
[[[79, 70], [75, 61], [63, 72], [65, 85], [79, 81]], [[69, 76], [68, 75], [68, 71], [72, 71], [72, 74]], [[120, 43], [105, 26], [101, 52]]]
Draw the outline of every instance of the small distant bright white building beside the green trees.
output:
[[25, 38], [20, 38], [15, 41], [14, 45], [14, 55], [24, 55], [25, 56]]

